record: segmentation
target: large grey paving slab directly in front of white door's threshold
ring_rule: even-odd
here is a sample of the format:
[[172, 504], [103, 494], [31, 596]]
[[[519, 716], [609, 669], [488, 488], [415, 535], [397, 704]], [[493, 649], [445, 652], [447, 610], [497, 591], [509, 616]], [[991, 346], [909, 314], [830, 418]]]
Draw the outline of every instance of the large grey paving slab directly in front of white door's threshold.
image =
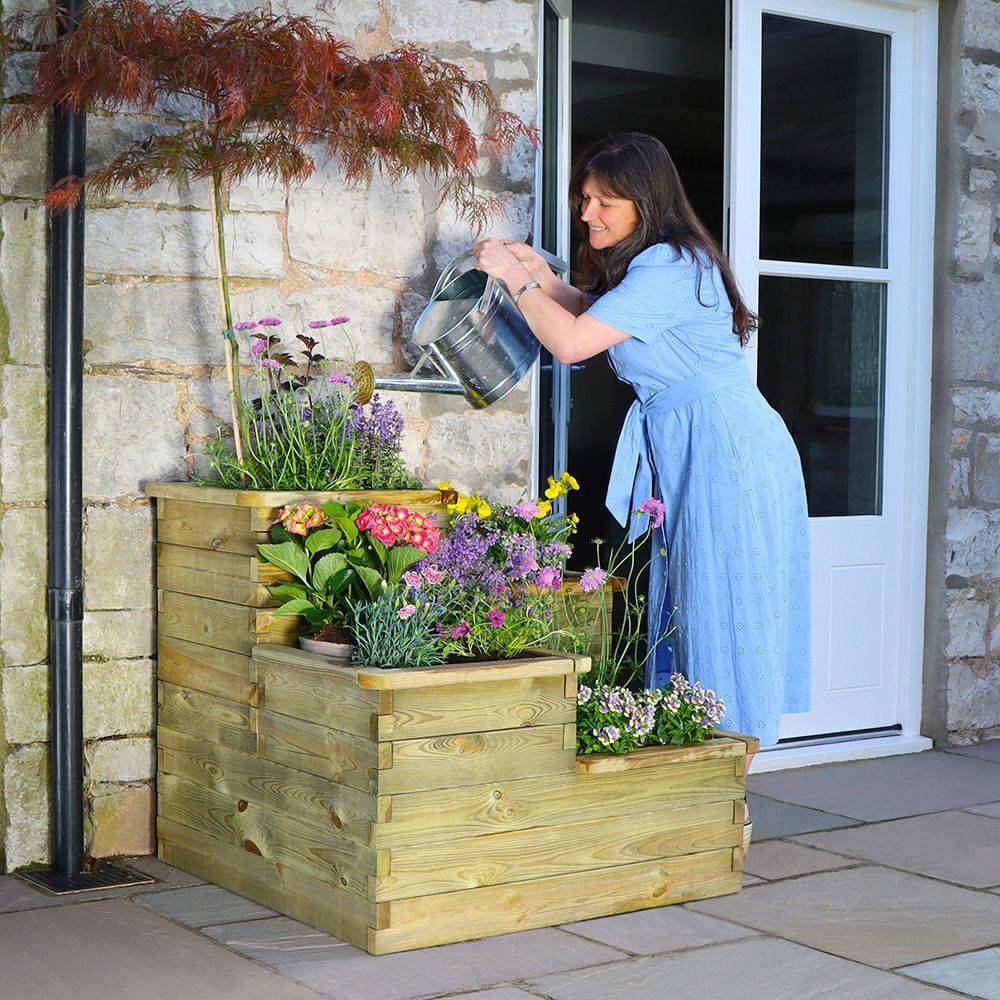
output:
[[[928, 750], [751, 774], [747, 785], [754, 795], [874, 823], [996, 802], [1000, 799], [1000, 763]], [[753, 805], [750, 814], [756, 833]]]

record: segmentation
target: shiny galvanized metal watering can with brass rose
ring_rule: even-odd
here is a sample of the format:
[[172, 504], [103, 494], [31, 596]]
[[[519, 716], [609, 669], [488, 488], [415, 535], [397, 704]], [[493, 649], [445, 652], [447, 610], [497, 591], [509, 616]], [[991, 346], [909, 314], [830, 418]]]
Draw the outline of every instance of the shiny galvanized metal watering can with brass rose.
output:
[[[557, 272], [567, 270], [565, 261], [536, 252]], [[538, 357], [538, 341], [507, 286], [468, 268], [473, 259], [473, 252], [466, 251], [441, 272], [413, 328], [413, 340], [423, 353], [408, 375], [376, 377], [367, 362], [358, 362], [354, 387], [358, 402], [367, 402], [374, 389], [395, 389], [463, 395], [471, 406], [483, 409], [528, 374]], [[426, 361], [433, 363], [441, 378], [417, 374]]]

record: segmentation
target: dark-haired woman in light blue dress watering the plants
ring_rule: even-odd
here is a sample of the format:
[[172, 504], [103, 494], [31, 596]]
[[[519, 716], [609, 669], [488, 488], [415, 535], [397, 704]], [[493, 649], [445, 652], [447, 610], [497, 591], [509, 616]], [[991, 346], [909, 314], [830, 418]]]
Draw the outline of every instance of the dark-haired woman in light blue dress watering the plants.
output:
[[669, 577], [677, 668], [723, 699], [724, 726], [776, 743], [782, 713], [809, 708], [809, 530], [795, 446], [743, 360], [756, 317], [657, 139], [592, 146], [570, 199], [582, 292], [524, 244], [486, 240], [478, 266], [557, 360], [607, 351], [632, 384], [607, 505], [625, 525], [645, 497], [666, 504], [650, 620]]

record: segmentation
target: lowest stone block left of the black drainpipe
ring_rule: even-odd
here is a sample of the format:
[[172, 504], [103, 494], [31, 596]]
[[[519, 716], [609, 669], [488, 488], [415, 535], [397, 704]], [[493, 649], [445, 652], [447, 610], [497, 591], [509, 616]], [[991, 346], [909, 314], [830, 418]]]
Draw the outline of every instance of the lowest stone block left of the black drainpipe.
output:
[[[81, 792], [82, 794], [82, 792]], [[3, 767], [7, 805], [7, 867], [49, 860], [49, 753], [33, 743], [7, 755]]]

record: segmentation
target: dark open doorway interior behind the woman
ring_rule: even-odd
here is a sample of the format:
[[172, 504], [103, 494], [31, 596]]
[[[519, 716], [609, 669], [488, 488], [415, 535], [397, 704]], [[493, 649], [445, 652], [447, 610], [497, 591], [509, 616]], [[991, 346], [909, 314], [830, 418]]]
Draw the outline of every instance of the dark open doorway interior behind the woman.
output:
[[[726, 16], [725, 0], [573, 4], [573, 159], [614, 132], [655, 135], [670, 150], [696, 211], [717, 239], [724, 211]], [[576, 247], [574, 233], [574, 256]], [[581, 490], [569, 504], [580, 517], [573, 565], [582, 568], [593, 561], [592, 538], [614, 543], [622, 535], [604, 507], [604, 494], [633, 394], [602, 355], [574, 366], [571, 399], [568, 468]], [[560, 428], [552, 432], [558, 435]], [[552, 470], [543, 465], [540, 471], [544, 483]]]

